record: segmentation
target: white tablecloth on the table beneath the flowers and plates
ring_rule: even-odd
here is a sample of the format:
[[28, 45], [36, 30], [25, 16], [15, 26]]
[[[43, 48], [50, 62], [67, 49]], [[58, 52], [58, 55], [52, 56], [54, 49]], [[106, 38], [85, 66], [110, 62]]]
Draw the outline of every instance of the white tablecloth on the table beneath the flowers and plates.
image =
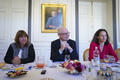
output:
[[[34, 64], [27, 64], [24, 67], [26, 68], [30, 65], [33, 66]], [[44, 75], [41, 75], [42, 69], [32, 68], [28, 70], [26, 75], [17, 78], [8, 78], [6, 75], [8, 71], [0, 70], [0, 80], [40, 80], [42, 78], [52, 78], [54, 80], [97, 80], [95, 69], [92, 69], [91, 72], [88, 72], [86, 69], [83, 74], [72, 75], [68, 74], [62, 67], [58, 66], [58, 64], [56, 65], [57, 67], [54, 68], [45, 67], [44, 69], [46, 69], [47, 72]]]

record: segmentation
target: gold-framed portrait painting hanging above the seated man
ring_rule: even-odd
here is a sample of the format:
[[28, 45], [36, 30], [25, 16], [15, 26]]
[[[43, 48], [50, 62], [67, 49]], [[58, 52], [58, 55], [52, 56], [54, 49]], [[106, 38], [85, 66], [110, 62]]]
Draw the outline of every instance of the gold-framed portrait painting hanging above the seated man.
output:
[[55, 33], [60, 26], [66, 26], [65, 4], [42, 4], [42, 32]]

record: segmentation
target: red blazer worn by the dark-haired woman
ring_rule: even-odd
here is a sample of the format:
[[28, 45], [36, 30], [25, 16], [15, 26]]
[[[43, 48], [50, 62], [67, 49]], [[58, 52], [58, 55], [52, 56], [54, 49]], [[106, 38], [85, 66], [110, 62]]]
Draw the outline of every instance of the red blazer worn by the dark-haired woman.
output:
[[100, 59], [103, 59], [104, 55], [108, 54], [108, 55], [114, 56], [116, 62], [118, 61], [118, 57], [115, 54], [110, 43], [108, 43], [107, 45], [104, 45], [103, 51], [101, 52], [99, 44], [96, 44], [95, 42], [91, 42], [91, 44], [90, 44], [90, 48], [89, 48], [89, 60], [90, 61], [91, 61], [91, 59], [93, 59], [93, 51], [94, 51], [95, 47], [98, 47], [98, 50], [100, 52]]

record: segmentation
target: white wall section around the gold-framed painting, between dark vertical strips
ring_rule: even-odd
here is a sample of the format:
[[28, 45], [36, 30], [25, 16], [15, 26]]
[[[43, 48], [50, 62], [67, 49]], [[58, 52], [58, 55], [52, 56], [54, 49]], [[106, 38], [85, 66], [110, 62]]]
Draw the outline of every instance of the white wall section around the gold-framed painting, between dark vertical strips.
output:
[[41, 33], [41, 4], [66, 4], [66, 27], [70, 38], [75, 40], [75, 0], [33, 0], [32, 1], [32, 36], [36, 56], [50, 59], [51, 41], [58, 38], [57, 33]]

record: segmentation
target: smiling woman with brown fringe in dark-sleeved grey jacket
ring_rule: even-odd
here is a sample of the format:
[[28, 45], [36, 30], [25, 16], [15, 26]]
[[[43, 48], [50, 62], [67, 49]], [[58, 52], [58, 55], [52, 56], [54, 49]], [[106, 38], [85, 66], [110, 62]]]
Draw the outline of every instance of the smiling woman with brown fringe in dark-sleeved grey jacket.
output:
[[19, 30], [15, 37], [15, 42], [11, 43], [4, 61], [9, 64], [25, 64], [35, 60], [33, 44], [29, 42], [27, 33]]

